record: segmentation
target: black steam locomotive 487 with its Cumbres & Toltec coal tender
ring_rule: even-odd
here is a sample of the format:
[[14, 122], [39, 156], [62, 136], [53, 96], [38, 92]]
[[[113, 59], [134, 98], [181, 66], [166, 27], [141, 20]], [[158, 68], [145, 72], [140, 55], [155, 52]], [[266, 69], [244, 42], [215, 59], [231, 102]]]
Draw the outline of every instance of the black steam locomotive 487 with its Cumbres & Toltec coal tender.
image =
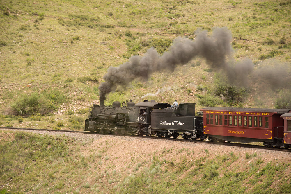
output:
[[145, 100], [137, 104], [126, 101], [105, 106], [104, 100], [100, 97], [100, 105], [93, 105], [84, 131], [206, 139], [203, 117], [195, 116], [195, 103], [180, 103], [171, 108], [168, 103]]

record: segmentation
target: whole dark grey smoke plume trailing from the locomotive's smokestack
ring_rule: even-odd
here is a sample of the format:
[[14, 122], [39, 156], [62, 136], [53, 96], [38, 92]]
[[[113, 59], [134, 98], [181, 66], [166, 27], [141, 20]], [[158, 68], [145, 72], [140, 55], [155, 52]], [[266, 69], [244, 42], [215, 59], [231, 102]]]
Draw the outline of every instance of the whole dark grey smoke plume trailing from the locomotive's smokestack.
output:
[[[148, 49], [143, 57], [132, 56], [128, 62], [119, 67], [109, 67], [104, 75], [105, 82], [98, 87], [100, 96], [116, 88], [117, 85], [127, 85], [136, 78], [148, 79], [157, 71], [174, 69], [178, 65], [187, 64], [195, 57], [203, 57], [212, 69], [223, 71], [228, 81], [233, 85], [248, 86], [249, 82], [268, 82], [271, 88], [281, 84], [284, 87], [291, 80], [290, 64], [283, 66], [277, 64], [262, 65], [262, 68], [254, 70], [253, 62], [246, 58], [235, 64], [233, 48], [230, 44], [232, 35], [226, 27], [215, 28], [212, 36], [207, 36], [207, 31], [197, 30], [195, 39], [177, 38], [170, 46], [169, 51], [159, 55], [154, 48]], [[288, 71], [286, 70], [289, 69]]]

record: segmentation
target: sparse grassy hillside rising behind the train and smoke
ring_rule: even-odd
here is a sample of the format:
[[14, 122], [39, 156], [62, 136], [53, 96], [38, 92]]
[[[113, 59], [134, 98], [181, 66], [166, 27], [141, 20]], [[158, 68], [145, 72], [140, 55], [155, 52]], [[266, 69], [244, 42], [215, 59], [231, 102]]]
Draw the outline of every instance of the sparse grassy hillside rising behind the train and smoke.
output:
[[[98, 86], [109, 66], [152, 46], [162, 54], [176, 37], [195, 40], [199, 28], [211, 35], [214, 27], [226, 26], [235, 60], [248, 57], [256, 66], [268, 58], [290, 63], [291, 1], [286, 0], [3, 0], [0, 6], [1, 114], [12, 114], [11, 104], [33, 92], [54, 110], [74, 103], [88, 107], [98, 102]], [[213, 83], [214, 70], [195, 58], [174, 72], [118, 87], [106, 104], [129, 98], [137, 102], [148, 93], [156, 93], [150, 98], [158, 101], [197, 102], [194, 94]], [[256, 96], [249, 96], [244, 106], [274, 107], [270, 94]]]

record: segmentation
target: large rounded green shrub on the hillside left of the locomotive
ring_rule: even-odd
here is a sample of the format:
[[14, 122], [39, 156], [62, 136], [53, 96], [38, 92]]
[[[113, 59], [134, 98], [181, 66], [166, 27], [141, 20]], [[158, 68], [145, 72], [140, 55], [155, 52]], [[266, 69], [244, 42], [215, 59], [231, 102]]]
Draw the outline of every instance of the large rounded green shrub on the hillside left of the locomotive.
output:
[[54, 109], [54, 105], [42, 94], [34, 92], [20, 96], [11, 104], [11, 109], [17, 116], [31, 116], [37, 113], [46, 115]]

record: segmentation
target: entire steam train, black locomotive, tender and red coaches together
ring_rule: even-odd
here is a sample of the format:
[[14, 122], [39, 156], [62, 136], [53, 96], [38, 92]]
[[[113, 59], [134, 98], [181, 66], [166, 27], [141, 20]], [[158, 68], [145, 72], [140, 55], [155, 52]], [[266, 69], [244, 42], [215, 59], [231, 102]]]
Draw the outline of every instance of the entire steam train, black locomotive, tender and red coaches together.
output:
[[105, 97], [100, 97], [100, 105], [93, 105], [84, 131], [263, 142], [267, 147], [276, 148], [291, 145], [291, 109], [207, 107], [196, 116], [195, 103], [180, 103], [171, 108], [170, 104], [155, 100], [137, 104], [131, 100], [116, 101], [112, 106], [105, 106], [104, 102]]

